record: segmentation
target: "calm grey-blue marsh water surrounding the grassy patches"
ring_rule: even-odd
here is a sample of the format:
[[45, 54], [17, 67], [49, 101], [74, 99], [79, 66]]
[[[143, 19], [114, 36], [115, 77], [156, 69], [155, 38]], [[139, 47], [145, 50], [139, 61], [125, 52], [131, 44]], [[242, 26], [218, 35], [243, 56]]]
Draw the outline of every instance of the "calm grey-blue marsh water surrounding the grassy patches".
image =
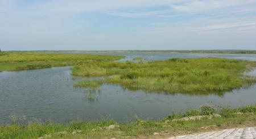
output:
[[[256, 60], [256, 54], [180, 54], [180, 53], [75, 53], [125, 55], [123, 60], [143, 57], [150, 60], [170, 58], [221, 57]], [[9, 124], [10, 115], [27, 120], [97, 121], [114, 119], [125, 123], [141, 119], [159, 120], [189, 108], [204, 104], [216, 107], [254, 105], [256, 85], [232, 92], [154, 93], [132, 91], [119, 85], [104, 84], [90, 92], [74, 88], [73, 83], [84, 80], [71, 76], [71, 67], [55, 67], [32, 71], [0, 73], [0, 124]], [[256, 70], [248, 73], [256, 75]], [[135, 116], [136, 115], [136, 116]]]

